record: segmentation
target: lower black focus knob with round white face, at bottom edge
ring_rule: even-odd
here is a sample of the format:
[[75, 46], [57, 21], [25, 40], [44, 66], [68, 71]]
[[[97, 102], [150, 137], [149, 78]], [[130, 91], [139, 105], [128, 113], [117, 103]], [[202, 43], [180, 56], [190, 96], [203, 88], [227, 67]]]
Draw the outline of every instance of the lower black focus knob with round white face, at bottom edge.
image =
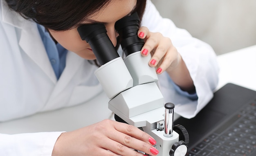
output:
[[169, 155], [170, 156], [185, 156], [186, 152], [188, 151], [188, 147], [184, 141], [179, 141], [177, 143], [174, 143]]

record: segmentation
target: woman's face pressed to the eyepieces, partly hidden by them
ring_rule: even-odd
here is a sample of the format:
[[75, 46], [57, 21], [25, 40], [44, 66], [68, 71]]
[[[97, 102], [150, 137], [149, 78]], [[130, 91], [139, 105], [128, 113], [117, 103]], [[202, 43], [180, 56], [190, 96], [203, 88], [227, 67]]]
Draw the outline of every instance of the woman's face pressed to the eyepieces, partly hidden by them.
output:
[[[83, 21], [84, 24], [103, 23], [108, 31], [108, 37], [116, 46], [118, 33], [115, 31], [115, 22], [129, 15], [136, 6], [137, 0], [112, 0], [103, 10], [95, 13], [92, 18]], [[90, 45], [81, 40], [77, 28], [68, 31], [53, 31], [49, 29], [52, 37], [64, 48], [83, 57], [96, 59]]]

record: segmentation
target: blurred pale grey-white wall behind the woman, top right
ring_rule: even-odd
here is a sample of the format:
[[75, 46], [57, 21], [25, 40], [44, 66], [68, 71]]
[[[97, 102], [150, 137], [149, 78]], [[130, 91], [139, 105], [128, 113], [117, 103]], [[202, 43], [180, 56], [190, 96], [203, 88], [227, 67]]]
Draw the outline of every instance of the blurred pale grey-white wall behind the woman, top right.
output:
[[209, 43], [216, 54], [256, 44], [256, 0], [152, 0], [164, 18]]

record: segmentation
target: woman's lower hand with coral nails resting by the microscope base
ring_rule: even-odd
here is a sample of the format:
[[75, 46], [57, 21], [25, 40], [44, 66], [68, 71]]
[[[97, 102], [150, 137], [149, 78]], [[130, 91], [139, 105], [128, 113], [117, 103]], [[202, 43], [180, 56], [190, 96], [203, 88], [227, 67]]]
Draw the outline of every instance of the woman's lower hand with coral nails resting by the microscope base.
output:
[[155, 156], [156, 141], [137, 127], [109, 119], [59, 136], [52, 156]]

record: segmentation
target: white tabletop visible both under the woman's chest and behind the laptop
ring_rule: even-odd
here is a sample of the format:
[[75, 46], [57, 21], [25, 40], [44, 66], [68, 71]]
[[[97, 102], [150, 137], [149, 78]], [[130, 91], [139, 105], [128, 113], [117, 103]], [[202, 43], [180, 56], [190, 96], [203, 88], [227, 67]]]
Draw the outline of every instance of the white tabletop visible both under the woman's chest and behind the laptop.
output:
[[[256, 90], [256, 45], [219, 55], [218, 63], [220, 80], [217, 89], [230, 82]], [[72, 131], [103, 119], [114, 119], [113, 113], [108, 109], [108, 101], [108, 97], [102, 92], [81, 105], [0, 123], [0, 133]]]

